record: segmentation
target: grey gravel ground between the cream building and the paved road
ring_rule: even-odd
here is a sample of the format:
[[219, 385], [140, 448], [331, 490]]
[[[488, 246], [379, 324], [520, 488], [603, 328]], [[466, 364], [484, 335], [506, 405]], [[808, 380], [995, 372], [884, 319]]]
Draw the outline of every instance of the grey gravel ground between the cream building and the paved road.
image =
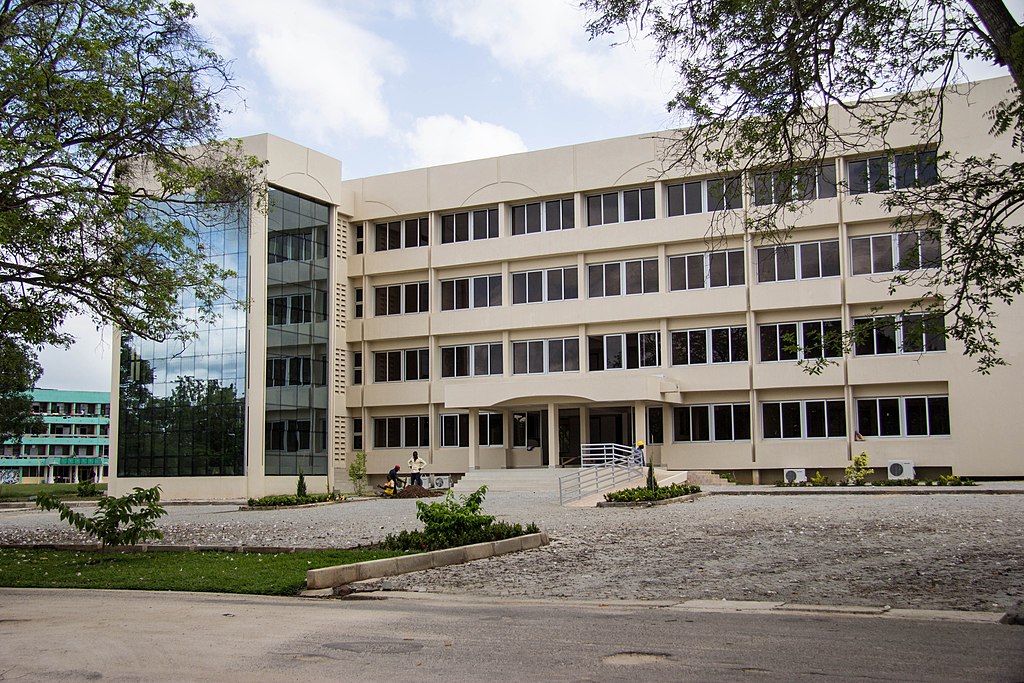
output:
[[[369, 588], [571, 599], [779, 600], [1004, 610], [1024, 600], [1024, 496], [718, 496], [562, 508], [490, 493], [485, 511], [546, 528], [546, 548]], [[170, 506], [171, 544], [350, 547], [417, 526], [415, 501], [241, 512]], [[0, 513], [0, 544], [74, 543], [54, 513]]]

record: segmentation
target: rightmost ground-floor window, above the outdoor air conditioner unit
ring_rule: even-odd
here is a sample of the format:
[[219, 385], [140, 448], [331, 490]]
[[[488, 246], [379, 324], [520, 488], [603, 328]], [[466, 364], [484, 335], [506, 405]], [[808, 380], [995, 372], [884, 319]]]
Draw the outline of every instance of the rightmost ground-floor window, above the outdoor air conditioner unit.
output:
[[948, 436], [949, 397], [858, 398], [857, 431], [864, 436]]

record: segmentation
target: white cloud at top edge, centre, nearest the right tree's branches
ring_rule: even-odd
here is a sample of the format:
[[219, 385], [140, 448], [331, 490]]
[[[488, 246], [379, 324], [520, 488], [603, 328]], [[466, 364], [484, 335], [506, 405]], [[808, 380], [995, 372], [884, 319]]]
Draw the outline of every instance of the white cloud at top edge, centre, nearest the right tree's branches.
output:
[[485, 47], [504, 67], [594, 102], [662, 109], [669, 98], [652, 43], [610, 47], [588, 40], [587, 15], [575, 0], [434, 0], [433, 10], [452, 36]]

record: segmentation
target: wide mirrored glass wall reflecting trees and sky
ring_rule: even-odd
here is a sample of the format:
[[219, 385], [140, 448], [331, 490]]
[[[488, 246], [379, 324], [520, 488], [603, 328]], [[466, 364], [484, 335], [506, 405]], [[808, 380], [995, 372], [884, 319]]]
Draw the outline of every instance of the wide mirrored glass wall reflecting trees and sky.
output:
[[[213, 323], [197, 336], [155, 342], [121, 337], [119, 477], [238, 476], [245, 473], [247, 209], [191, 219], [208, 258], [234, 271]], [[199, 319], [195, 296], [179, 300]]]

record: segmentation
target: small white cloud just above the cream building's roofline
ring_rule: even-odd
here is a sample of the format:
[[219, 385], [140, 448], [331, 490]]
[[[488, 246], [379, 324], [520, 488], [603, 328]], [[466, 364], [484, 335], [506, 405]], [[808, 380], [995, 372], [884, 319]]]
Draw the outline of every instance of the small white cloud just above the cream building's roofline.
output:
[[406, 133], [403, 138], [410, 153], [410, 164], [414, 167], [453, 164], [526, 151], [522, 138], [508, 128], [446, 114], [417, 119], [412, 132]]

